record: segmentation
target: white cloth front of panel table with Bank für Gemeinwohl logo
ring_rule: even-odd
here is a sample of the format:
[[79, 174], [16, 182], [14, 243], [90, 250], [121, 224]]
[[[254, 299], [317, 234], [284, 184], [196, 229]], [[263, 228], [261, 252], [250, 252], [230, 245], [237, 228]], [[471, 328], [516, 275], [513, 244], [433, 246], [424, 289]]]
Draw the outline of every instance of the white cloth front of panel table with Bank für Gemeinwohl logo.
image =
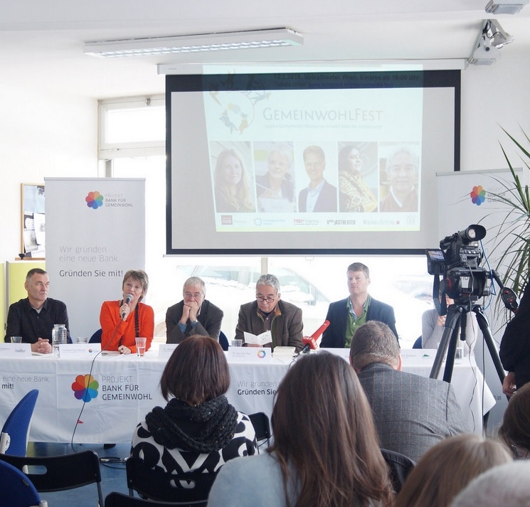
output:
[[[143, 358], [0, 357], [0, 427], [18, 400], [31, 389], [39, 395], [31, 421], [33, 442], [129, 442], [144, 416], [166, 402], [159, 381], [167, 356], [148, 351]], [[403, 370], [428, 376], [435, 351], [402, 351]], [[277, 387], [291, 361], [230, 361], [227, 396], [245, 413], [270, 416]], [[90, 377], [88, 376], [90, 375]], [[314, 379], [318, 382], [318, 379]], [[482, 415], [494, 397], [471, 358], [455, 362], [452, 375], [457, 400], [470, 429], [482, 434]], [[83, 402], [83, 397], [86, 402]]]

